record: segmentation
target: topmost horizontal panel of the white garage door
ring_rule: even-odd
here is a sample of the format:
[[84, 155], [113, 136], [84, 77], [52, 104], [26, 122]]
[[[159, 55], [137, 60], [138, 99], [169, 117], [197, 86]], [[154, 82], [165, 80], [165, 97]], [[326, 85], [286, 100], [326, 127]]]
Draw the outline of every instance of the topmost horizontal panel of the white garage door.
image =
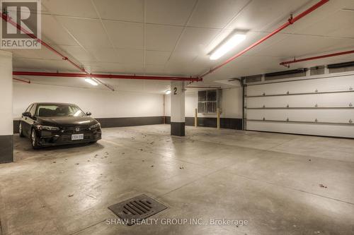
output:
[[281, 95], [290, 93], [338, 91], [354, 89], [354, 76], [342, 76], [335, 78], [321, 78], [313, 80], [298, 80], [285, 83], [269, 83], [262, 85], [249, 85], [247, 95]]

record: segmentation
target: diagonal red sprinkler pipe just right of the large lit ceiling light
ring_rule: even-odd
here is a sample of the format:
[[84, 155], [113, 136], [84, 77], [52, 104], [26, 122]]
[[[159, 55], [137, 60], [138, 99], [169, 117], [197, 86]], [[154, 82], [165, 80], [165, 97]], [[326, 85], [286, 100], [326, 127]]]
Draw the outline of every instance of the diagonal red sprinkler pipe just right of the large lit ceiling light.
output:
[[270, 32], [269, 35], [261, 38], [261, 40], [258, 40], [257, 42], [251, 44], [251, 46], [247, 47], [246, 49], [242, 50], [241, 52], [235, 54], [234, 56], [232, 56], [231, 58], [227, 59], [227, 61], [224, 61], [224, 63], [219, 64], [219, 66], [216, 66], [215, 68], [210, 69], [210, 71], [208, 71], [207, 73], [203, 73], [201, 76], [199, 76], [199, 78], [204, 78], [205, 76], [207, 76], [208, 74], [216, 71], [217, 69], [221, 68], [222, 66], [229, 64], [229, 62], [233, 61], [234, 59], [236, 59], [237, 57], [245, 54], [246, 52], [248, 52], [250, 49], [252, 49], [253, 47], [256, 47], [258, 44], [261, 44], [262, 42], [264, 42], [265, 40], [268, 40], [268, 38], [272, 37], [273, 35], [276, 35], [278, 32], [284, 30], [285, 28], [287, 28], [289, 25], [292, 25], [293, 23], [295, 23], [297, 20], [303, 18], [304, 16], [307, 16], [307, 14], [312, 13], [312, 11], [316, 10], [317, 8], [319, 8], [320, 6], [326, 4], [327, 2], [329, 2], [329, 0], [321, 0], [319, 1], [317, 4], [314, 4], [314, 6], [308, 8], [306, 11], [299, 13], [299, 15], [295, 16], [294, 18], [291, 16], [288, 20], [287, 23], [284, 23], [283, 25], [281, 25], [278, 29], [274, 30], [273, 32]]

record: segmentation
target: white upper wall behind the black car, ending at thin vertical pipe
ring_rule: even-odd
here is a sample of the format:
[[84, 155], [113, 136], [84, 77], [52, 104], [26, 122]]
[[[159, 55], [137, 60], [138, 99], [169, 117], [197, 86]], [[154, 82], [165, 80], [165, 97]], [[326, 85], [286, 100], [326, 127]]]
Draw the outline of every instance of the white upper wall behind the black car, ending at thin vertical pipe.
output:
[[33, 102], [74, 103], [95, 118], [163, 116], [164, 112], [163, 95], [13, 83], [13, 119]]

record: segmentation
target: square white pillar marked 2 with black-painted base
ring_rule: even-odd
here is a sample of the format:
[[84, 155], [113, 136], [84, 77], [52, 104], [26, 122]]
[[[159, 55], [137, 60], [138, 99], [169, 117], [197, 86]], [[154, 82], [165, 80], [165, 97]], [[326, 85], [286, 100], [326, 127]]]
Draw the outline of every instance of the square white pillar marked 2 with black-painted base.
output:
[[185, 135], [183, 82], [171, 82], [171, 135]]

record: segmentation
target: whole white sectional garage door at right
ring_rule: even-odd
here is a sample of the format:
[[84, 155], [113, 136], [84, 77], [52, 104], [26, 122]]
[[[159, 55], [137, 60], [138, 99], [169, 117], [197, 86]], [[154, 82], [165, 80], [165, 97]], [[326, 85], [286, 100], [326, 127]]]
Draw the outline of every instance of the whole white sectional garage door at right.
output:
[[246, 87], [246, 130], [354, 138], [354, 75]]

